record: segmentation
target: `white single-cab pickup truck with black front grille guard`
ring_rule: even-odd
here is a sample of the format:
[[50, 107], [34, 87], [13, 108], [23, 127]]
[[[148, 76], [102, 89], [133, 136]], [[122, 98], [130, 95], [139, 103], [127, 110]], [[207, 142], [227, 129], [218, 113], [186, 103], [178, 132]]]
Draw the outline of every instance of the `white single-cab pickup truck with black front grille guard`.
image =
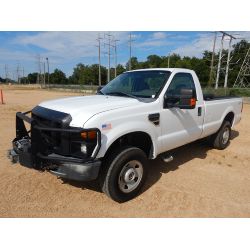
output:
[[98, 179], [103, 192], [124, 202], [139, 193], [148, 159], [205, 137], [214, 148], [226, 148], [242, 108], [241, 98], [203, 95], [192, 70], [128, 71], [96, 95], [18, 112], [9, 157], [61, 178]]

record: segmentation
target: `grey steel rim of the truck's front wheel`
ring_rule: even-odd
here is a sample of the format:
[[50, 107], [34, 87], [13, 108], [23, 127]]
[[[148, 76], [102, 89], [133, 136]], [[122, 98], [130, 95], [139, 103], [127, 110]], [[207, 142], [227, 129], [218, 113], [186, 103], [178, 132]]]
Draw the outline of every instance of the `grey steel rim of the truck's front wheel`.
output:
[[135, 190], [143, 175], [143, 167], [139, 161], [132, 160], [127, 162], [119, 174], [118, 186], [124, 193], [130, 193]]

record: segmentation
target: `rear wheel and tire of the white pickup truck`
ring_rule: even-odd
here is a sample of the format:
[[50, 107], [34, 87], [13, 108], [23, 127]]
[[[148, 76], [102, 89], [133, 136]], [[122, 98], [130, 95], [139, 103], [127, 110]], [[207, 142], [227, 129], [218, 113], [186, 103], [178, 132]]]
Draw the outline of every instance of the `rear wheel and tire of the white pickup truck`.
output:
[[211, 145], [219, 150], [225, 149], [230, 144], [231, 123], [224, 121], [219, 131], [211, 136]]

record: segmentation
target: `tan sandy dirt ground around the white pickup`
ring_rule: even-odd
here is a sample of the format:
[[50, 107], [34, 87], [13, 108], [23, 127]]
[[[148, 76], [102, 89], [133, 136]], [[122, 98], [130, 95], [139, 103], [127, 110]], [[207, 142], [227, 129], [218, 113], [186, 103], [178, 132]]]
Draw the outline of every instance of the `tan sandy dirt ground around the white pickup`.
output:
[[96, 183], [64, 182], [6, 157], [15, 136], [15, 112], [43, 100], [76, 95], [4, 89], [0, 104], [0, 217], [250, 217], [250, 105], [224, 151], [195, 142], [179, 148], [174, 161], [151, 161], [137, 198], [118, 204]]

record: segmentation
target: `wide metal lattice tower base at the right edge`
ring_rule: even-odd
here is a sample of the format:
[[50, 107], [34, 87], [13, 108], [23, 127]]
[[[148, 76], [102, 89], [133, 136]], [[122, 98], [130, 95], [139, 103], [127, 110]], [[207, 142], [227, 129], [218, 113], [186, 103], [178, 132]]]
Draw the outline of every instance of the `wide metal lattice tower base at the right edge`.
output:
[[249, 88], [250, 87], [250, 47], [241, 65], [239, 74], [233, 85], [234, 88]]

